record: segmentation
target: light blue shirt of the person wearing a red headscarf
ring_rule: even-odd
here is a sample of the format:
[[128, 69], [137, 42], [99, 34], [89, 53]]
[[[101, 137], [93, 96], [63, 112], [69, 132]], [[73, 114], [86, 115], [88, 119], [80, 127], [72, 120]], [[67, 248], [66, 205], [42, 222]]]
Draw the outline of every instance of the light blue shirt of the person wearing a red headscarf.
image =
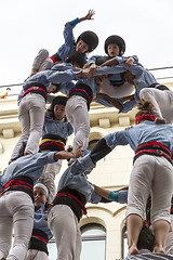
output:
[[157, 141], [172, 151], [173, 126], [146, 120], [128, 130], [110, 133], [104, 139], [109, 147], [130, 144], [131, 148], [135, 151], [142, 143]]

